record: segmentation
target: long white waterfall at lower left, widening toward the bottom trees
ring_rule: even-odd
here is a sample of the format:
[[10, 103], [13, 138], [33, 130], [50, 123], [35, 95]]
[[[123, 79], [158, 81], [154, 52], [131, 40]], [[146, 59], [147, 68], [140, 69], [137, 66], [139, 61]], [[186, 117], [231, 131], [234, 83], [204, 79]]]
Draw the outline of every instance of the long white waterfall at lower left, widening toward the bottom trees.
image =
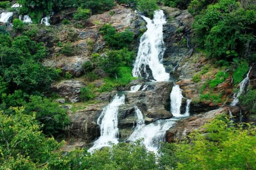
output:
[[124, 99], [124, 95], [118, 96], [116, 94], [113, 101], [103, 108], [103, 111], [97, 120], [97, 124], [100, 126], [101, 136], [94, 142], [93, 147], [88, 150], [89, 152], [93, 153], [95, 149], [111, 146], [111, 143], [118, 143], [117, 114], [118, 107], [121, 104], [124, 104]]

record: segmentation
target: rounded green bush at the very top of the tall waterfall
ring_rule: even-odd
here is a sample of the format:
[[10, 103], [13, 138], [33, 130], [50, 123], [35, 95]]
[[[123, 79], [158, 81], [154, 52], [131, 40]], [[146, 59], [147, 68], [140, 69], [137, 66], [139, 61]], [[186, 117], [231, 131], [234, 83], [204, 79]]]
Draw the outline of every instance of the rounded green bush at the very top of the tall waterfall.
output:
[[154, 11], [159, 9], [159, 7], [156, 0], [140, 0], [138, 3], [138, 9], [153, 18]]

